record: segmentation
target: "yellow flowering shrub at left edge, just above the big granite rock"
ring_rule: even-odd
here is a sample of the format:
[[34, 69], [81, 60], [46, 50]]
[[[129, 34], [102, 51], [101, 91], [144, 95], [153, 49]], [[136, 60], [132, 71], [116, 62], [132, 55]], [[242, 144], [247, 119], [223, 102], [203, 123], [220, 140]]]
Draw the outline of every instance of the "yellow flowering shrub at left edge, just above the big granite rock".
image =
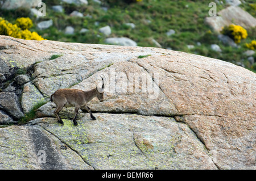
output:
[[[19, 21], [19, 20], [18, 20]], [[30, 27], [28, 24], [24, 24], [24, 26]], [[37, 32], [31, 32], [29, 30], [22, 30], [17, 24], [11, 24], [7, 20], [0, 17], [0, 35], [7, 35], [11, 37], [15, 37], [17, 39], [25, 39], [25, 40], [46, 40], [42, 36], [38, 35]]]

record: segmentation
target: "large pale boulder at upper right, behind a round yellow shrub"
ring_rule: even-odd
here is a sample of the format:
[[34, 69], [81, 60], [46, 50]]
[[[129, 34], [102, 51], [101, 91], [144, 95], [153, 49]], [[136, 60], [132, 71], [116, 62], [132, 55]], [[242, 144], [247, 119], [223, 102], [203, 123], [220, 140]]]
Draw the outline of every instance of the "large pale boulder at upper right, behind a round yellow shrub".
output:
[[243, 28], [256, 26], [256, 19], [247, 11], [238, 6], [229, 6], [217, 13], [217, 16], [208, 16], [205, 23], [213, 28], [214, 31], [220, 32], [222, 27], [230, 24], [237, 24]]

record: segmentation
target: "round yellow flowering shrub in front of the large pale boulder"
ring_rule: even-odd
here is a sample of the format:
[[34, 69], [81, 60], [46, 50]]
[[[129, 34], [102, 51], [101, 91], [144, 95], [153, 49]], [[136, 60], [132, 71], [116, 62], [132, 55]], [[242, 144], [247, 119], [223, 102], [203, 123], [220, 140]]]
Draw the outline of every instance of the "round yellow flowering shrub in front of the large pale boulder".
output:
[[248, 36], [245, 28], [234, 24], [230, 24], [230, 26], [224, 27], [221, 33], [231, 37], [235, 43], [240, 43], [242, 39], [246, 39]]

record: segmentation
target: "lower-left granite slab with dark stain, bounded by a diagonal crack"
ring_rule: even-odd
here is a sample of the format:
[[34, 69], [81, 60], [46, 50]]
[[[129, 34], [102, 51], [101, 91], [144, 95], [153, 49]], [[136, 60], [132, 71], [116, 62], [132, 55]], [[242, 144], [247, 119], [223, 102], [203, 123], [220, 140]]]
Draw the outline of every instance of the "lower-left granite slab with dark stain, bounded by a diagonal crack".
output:
[[0, 136], [0, 169], [93, 169], [85, 158], [42, 127], [1, 128]]

